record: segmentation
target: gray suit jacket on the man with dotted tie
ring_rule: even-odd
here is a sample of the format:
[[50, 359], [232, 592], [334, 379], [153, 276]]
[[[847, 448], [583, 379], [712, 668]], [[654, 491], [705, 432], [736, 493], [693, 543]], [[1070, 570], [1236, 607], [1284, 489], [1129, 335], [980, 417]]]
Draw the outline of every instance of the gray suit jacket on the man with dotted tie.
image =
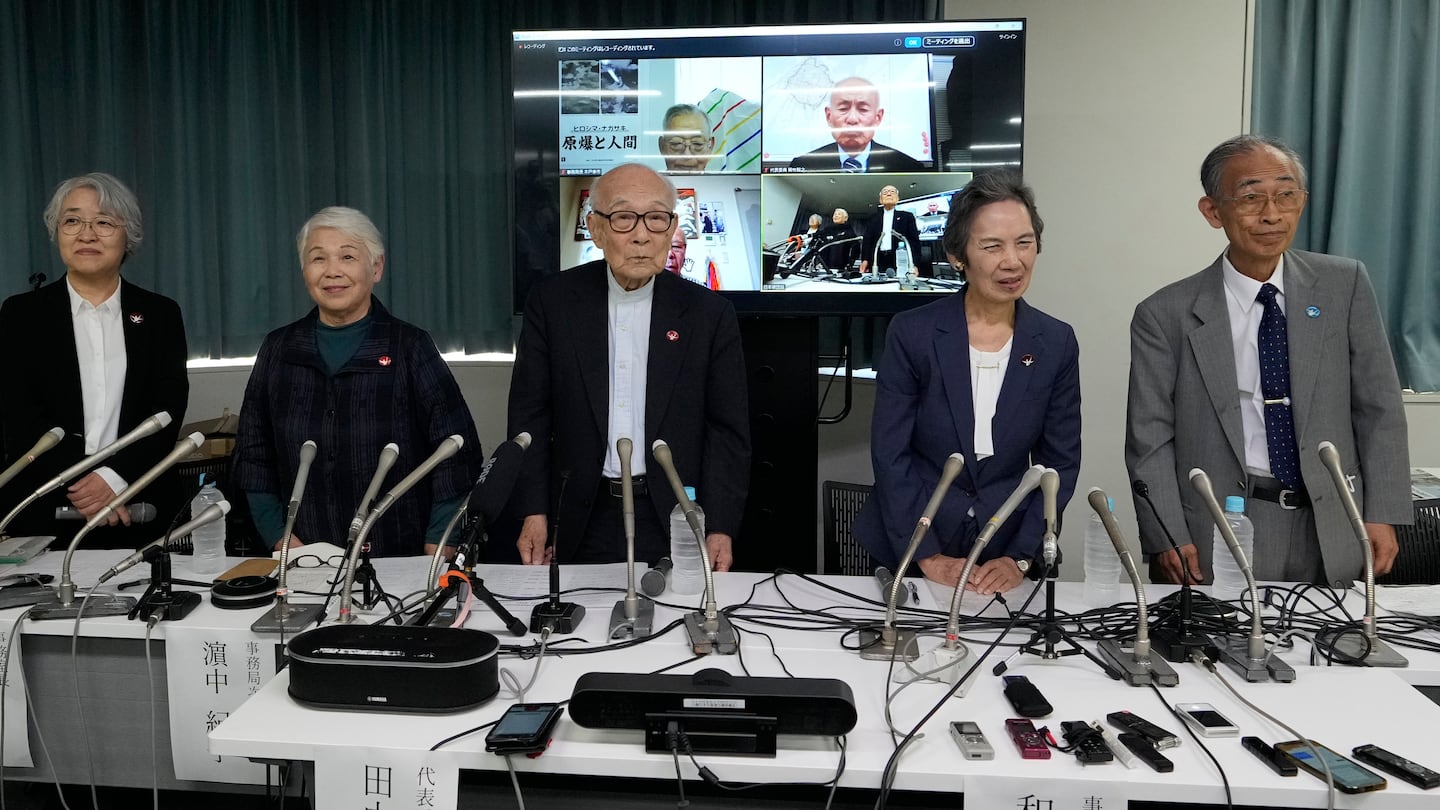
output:
[[[1355, 500], [1365, 520], [1408, 525], [1410, 458], [1400, 379], [1361, 262], [1287, 251], [1284, 291], [1300, 477], [1313, 502], [1326, 579], [1342, 585], [1359, 575], [1364, 552], [1316, 447], [1335, 444], [1345, 473], [1355, 476]], [[1308, 314], [1310, 307], [1318, 308], [1316, 317]], [[1214, 523], [1189, 484], [1189, 470], [1205, 470], [1221, 500], [1246, 494], [1240, 391], [1218, 258], [1135, 308], [1125, 464], [1132, 481], [1149, 484], [1175, 542], [1194, 542], [1208, 572]], [[1135, 512], [1145, 552], [1168, 549], [1139, 499]]]

